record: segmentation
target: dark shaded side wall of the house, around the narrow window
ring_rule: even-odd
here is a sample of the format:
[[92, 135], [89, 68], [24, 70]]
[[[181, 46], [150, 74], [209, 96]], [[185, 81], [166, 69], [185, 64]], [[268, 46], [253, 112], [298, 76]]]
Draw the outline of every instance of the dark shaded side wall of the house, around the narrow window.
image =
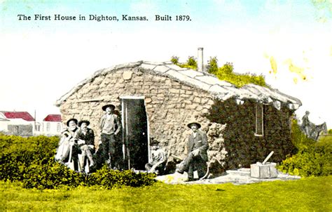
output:
[[242, 105], [233, 99], [216, 100], [207, 114], [210, 121], [226, 124], [222, 131], [223, 151], [228, 152], [225, 168], [248, 168], [257, 161], [263, 162], [271, 151], [275, 153], [270, 161], [280, 162], [295, 151], [291, 143], [293, 111], [284, 105], [280, 110], [263, 105], [264, 132], [263, 136], [257, 136], [256, 104], [254, 100], [245, 100]]

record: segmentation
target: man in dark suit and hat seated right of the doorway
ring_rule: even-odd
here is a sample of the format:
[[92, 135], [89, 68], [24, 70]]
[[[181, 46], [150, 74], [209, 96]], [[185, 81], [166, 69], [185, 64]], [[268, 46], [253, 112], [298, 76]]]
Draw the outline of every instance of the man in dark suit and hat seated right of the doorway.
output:
[[197, 170], [199, 177], [204, 175], [207, 158], [207, 134], [198, 130], [200, 124], [191, 122], [188, 125], [192, 132], [188, 138], [188, 155], [184, 161], [177, 166], [176, 171], [179, 173], [188, 172], [188, 181], [193, 180], [193, 171]]

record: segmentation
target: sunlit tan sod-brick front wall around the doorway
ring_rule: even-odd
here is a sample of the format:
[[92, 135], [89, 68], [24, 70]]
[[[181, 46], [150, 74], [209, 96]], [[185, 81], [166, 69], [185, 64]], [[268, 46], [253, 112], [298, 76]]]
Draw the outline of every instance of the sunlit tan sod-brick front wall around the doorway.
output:
[[186, 125], [195, 119], [202, 124], [202, 131], [209, 131], [209, 158], [225, 159], [221, 136], [224, 126], [213, 124], [205, 117], [214, 104], [212, 96], [148, 69], [125, 67], [95, 77], [63, 102], [62, 118], [64, 121], [71, 117], [90, 120], [97, 143], [99, 118], [104, 114], [102, 106], [112, 103], [120, 111], [120, 96], [144, 96], [149, 133], [160, 141], [168, 155], [186, 156], [186, 143], [191, 133]]

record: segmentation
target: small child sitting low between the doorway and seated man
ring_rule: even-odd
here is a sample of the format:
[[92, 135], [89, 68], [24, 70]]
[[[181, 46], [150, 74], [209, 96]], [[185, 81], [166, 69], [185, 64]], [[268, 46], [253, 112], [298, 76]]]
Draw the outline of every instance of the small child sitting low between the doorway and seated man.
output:
[[151, 159], [152, 161], [145, 164], [146, 171], [148, 173], [162, 174], [164, 171], [164, 163], [166, 161], [165, 152], [160, 149], [157, 140], [151, 139]]

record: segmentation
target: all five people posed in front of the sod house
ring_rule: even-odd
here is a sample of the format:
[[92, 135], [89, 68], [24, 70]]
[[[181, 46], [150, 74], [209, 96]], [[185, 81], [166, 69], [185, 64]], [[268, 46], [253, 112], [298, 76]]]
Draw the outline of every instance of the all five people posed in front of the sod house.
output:
[[[69, 119], [67, 128], [62, 132], [59, 147], [55, 159], [66, 164], [75, 171], [87, 172], [85, 167], [100, 167], [106, 163], [109, 167], [119, 168], [118, 141], [116, 139], [121, 131], [118, 115], [114, 114], [114, 105], [104, 105], [102, 110], [105, 114], [100, 119], [100, 142], [95, 148], [95, 132], [89, 128], [90, 121]], [[187, 157], [177, 165], [176, 171], [188, 173], [188, 180], [194, 180], [194, 171], [198, 176], [204, 175], [207, 166], [207, 134], [200, 131], [198, 122], [191, 122], [191, 135], [188, 138]], [[151, 162], [145, 165], [146, 171], [162, 173], [166, 163], [165, 152], [160, 148], [157, 140], [151, 139]], [[98, 166], [99, 165], [99, 166]]]

